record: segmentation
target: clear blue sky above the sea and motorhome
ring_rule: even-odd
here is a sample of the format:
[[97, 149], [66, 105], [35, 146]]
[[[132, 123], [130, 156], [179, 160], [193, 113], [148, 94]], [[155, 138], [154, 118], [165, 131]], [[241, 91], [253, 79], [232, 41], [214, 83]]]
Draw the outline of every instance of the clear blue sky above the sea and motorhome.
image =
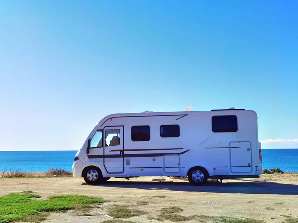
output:
[[3, 1], [0, 150], [77, 150], [105, 115], [191, 104], [255, 110], [263, 148], [298, 148], [297, 8]]

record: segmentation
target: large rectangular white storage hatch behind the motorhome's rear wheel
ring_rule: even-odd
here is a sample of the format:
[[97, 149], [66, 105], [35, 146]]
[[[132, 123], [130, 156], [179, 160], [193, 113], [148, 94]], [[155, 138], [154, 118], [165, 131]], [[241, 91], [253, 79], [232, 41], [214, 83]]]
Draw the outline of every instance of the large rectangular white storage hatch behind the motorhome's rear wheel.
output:
[[250, 142], [230, 142], [230, 168], [232, 173], [251, 173], [252, 156]]

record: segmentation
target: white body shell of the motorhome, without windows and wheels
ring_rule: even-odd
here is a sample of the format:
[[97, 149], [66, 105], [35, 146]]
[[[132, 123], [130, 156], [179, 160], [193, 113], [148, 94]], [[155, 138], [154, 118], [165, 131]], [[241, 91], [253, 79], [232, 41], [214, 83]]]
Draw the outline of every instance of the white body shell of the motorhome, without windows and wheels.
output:
[[[237, 132], [212, 131], [212, 117], [225, 115], [237, 116]], [[161, 125], [179, 125], [180, 136], [161, 137]], [[132, 126], [150, 126], [150, 140], [132, 141]], [[252, 110], [113, 114], [98, 122], [87, 138], [112, 129], [120, 132], [120, 144], [91, 148], [86, 154], [86, 139], [76, 154], [74, 177], [81, 177], [88, 166], [99, 167], [103, 177], [186, 176], [192, 167], [205, 168], [211, 178], [261, 174], [257, 114]]]

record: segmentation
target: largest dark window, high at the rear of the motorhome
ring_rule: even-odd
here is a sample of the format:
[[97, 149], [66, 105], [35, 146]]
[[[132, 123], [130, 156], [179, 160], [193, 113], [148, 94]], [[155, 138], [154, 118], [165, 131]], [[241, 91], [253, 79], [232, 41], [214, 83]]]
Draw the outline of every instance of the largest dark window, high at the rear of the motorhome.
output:
[[213, 116], [213, 132], [236, 132], [238, 131], [238, 119], [235, 115]]

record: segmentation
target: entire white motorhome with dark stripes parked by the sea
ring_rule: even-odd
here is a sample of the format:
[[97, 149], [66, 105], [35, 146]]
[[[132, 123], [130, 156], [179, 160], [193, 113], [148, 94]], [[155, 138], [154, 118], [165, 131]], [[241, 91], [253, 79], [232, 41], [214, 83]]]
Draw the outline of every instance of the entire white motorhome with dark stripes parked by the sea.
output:
[[257, 114], [226, 109], [112, 114], [104, 117], [77, 152], [74, 177], [101, 184], [110, 177], [259, 177], [262, 171]]

